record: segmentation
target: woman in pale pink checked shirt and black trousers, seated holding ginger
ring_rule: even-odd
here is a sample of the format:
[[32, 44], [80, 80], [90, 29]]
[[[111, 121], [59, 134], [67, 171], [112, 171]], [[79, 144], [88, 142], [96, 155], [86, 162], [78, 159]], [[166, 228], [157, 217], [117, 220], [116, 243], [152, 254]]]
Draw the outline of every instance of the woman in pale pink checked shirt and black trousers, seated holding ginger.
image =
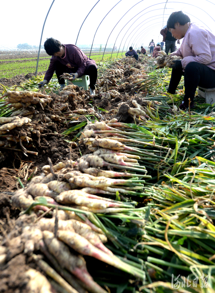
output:
[[168, 92], [175, 94], [184, 75], [185, 96], [179, 108], [193, 108], [197, 86], [215, 88], [215, 36], [206, 28], [191, 23], [182, 11], [173, 12], [167, 21], [167, 28], [176, 39], [183, 39], [181, 47], [171, 55], [181, 56], [174, 60]]

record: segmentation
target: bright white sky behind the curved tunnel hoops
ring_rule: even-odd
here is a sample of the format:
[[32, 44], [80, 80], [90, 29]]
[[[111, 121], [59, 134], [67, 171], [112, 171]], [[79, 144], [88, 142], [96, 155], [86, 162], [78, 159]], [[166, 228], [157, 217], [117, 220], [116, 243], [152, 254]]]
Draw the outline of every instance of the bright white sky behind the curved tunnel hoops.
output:
[[[0, 8], [4, 13], [0, 18], [0, 49], [16, 47], [19, 43], [39, 45], [52, 1], [1, 1]], [[93, 10], [86, 18], [91, 8]], [[45, 23], [42, 44], [49, 37], [63, 44], [75, 44], [86, 18], [77, 40], [79, 46], [91, 47], [92, 42], [96, 47], [105, 47], [106, 44], [113, 47], [115, 44], [117, 49], [131, 45], [136, 48], [147, 46], [151, 39], [162, 41], [160, 30], [170, 13], [179, 10], [185, 12], [192, 22], [215, 34], [215, 0], [55, 0]]]

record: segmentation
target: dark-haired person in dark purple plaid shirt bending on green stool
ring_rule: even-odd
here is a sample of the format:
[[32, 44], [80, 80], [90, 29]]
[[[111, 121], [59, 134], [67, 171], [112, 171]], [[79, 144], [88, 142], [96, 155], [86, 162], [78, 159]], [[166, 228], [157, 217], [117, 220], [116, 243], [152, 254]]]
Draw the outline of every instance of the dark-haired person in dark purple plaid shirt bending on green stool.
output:
[[47, 38], [44, 43], [45, 51], [51, 55], [50, 65], [46, 71], [44, 80], [39, 83], [41, 88], [49, 83], [54, 71], [60, 84], [60, 89], [65, 86], [65, 79], [60, 76], [69, 73], [74, 76], [71, 81], [82, 75], [89, 75], [90, 95], [95, 96], [95, 83], [97, 79], [97, 66], [95, 61], [88, 58], [76, 45], [61, 44], [58, 40]]

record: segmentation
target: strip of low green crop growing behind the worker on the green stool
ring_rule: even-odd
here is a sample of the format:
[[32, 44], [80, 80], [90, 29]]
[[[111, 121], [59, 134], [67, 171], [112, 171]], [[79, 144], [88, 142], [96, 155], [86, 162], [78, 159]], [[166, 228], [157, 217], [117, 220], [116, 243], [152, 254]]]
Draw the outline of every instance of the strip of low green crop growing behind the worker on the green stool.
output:
[[[122, 52], [119, 53], [118, 57], [120, 57]], [[87, 54], [89, 56], [89, 54]], [[96, 62], [100, 61], [102, 59], [103, 53], [100, 54], [95, 54], [91, 55], [91, 59], [94, 59]], [[105, 53], [103, 60], [109, 59], [111, 56], [111, 53]], [[112, 54], [112, 58], [116, 58], [117, 53]], [[49, 67], [50, 60], [49, 59], [44, 59], [48, 57], [42, 57], [39, 60], [39, 65], [38, 65], [38, 72], [41, 71], [46, 71]], [[31, 59], [33, 59], [31, 61]], [[22, 62], [9, 62], [9, 63], [4, 63], [4, 61], [16, 61], [16, 60], [21, 60]], [[25, 62], [26, 60], [26, 62]], [[5, 78], [13, 78], [16, 75], [25, 75], [30, 72], [35, 72], [36, 69], [36, 64], [37, 61], [35, 58], [28, 58], [24, 59], [19, 58], [19, 59], [6, 59], [6, 60], [1, 60], [3, 63], [1, 63], [0, 67], [0, 79], [5, 77]]]

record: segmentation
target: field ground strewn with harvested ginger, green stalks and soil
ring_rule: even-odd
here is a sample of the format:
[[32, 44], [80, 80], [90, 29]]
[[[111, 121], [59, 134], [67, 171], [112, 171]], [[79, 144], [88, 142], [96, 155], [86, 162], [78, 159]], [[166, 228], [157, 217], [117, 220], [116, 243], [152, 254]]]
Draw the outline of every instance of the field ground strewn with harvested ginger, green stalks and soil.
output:
[[214, 293], [214, 105], [178, 109], [183, 79], [166, 93], [147, 55], [107, 58], [93, 99], [56, 76], [1, 88], [2, 293], [30, 273], [44, 292]]

